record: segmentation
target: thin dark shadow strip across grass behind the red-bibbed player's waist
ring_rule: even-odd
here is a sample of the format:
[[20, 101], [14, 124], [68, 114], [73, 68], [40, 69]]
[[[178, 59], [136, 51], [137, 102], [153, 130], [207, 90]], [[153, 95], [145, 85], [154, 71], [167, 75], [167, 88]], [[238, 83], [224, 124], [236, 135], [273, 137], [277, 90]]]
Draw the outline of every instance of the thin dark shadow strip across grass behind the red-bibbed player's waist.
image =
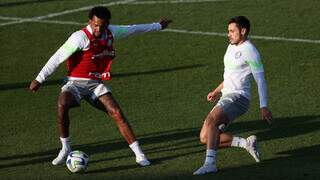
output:
[[[194, 65], [185, 65], [185, 66], [178, 66], [173, 68], [163, 68], [163, 69], [156, 69], [151, 71], [141, 71], [141, 72], [128, 72], [128, 73], [114, 73], [112, 77], [116, 78], [124, 78], [124, 77], [131, 77], [131, 76], [141, 76], [141, 75], [151, 75], [151, 74], [159, 74], [159, 73], [167, 73], [167, 72], [174, 72], [174, 71], [182, 71], [187, 69], [194, 69], [194, 68], [201, 68], [207, 66], [206, 64], [194, 64]], [[42, 86], [50, 86], [50, 85], [62, 85], [64, 84], [66, 79], [53, 79], [47, 80], [43, 83]], [[31, 80], [30, 80], [31, 82]], [[16, 82], [16, 83], [7, 83], [7, 84], [0, 84], [0, 91], [6, 90], [13, 90], [13, 89], [27, 89], [30, 85], [30, 82]]]

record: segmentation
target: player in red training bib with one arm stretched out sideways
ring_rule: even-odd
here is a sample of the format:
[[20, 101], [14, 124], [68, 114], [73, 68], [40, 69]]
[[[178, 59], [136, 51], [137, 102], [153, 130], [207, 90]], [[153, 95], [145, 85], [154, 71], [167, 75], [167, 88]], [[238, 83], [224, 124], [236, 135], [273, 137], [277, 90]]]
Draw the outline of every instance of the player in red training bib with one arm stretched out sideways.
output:
[[29, 89], [33, 92], [37, 91], [59, 64], [67, 60], [68, 82], [61, 88], [58, 98], [58, 129], [62, 149], [52, 161], [53, 165], [64, 164], [67, 155], [71, 152], [69, 110], [79, 106], [82, 99], [106, 112], [116, 122], [139, 165], [150, 164], [119, 104], [102, 80], [111, 78], [110, 66], [115, 57], [114, 39], [149, 31], [160, 31], [165, 29], [171, 20], [162, 19], [159, 23], [117, 26], [109, 25], [110, 19], [111, 13], [106, 7], [92, 8], [89, 12], [88, 25], [69, 37], [30, 84]]

